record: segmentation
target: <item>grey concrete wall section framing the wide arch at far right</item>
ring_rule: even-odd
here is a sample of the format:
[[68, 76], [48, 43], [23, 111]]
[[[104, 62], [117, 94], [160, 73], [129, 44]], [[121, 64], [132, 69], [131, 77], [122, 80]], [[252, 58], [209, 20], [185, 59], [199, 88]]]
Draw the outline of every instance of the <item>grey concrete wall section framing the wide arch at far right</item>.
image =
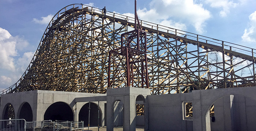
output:
[[[256, 87], [225, 88], [214, 90], [194, 90], [193, 93], [193, 127], [194, 130], [210, 130], [208, 110], [216, 100], [228, 95], [240, 95], [256, 101]], [[197, 119], [195, 119], [195, 117]], [[207, 120], [207, 121], [206, 121]]]

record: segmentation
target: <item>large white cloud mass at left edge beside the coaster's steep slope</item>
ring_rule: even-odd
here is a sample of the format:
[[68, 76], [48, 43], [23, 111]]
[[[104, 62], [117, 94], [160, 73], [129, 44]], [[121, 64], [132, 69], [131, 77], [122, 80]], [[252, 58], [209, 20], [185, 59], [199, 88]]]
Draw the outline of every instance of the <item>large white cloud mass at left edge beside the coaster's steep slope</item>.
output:
[[[20, 36], [12, 36], [0, 28], [0, 89], [14, 84], [33, 58], [34, 52], [23, 52], [29, 43]], [[21, 57], [20, 57], [21, 56]]]

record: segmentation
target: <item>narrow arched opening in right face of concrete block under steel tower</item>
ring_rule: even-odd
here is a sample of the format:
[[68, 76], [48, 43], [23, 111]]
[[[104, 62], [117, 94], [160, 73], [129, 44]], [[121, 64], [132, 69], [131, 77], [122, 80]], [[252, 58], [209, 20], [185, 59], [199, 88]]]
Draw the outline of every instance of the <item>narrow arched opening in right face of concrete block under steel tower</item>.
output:
[[144, 116], [144, 106], [145, 106], [145, 98], [142, 95], [136, 97], [136, 128], [143, 128], [145, 123]]

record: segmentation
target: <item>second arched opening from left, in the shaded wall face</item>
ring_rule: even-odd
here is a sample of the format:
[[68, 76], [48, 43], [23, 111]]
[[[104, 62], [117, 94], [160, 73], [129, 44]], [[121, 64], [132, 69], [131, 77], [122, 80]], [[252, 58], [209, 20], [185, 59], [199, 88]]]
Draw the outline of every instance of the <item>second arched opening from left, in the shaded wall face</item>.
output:
[[25, 119], [27, 122], [33, 121], [33, 112], [29, 103], [24, 103], [20, 107], [19, 119]]

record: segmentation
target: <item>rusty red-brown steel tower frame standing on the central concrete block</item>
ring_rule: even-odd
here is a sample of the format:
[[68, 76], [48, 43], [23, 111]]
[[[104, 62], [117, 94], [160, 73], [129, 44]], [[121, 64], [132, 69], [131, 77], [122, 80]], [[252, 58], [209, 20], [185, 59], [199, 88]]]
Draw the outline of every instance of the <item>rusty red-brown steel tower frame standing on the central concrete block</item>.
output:
[[[149, 88], [146, 44], [147, 33], [136, 29], [136, 26], [135, 30], [121, 34], [121, 47], [109, 51], [108, 88]], [[122, 58], [118, 59], [118, 55]], [[122, 76], [123, 80], [116, 79], [118, 75]]]

